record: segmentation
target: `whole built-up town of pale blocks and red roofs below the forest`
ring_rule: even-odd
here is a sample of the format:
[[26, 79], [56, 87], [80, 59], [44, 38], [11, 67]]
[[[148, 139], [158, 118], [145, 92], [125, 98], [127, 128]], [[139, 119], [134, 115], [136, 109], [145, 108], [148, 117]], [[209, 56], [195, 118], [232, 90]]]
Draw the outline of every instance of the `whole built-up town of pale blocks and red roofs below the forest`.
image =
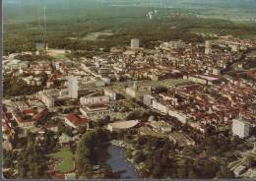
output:
[[[160, 42], [145, 49], [134, 38], [130, 47], [113, 47], [110, 53], [74, 62], [21, 61], [12, 54], [4, 57], [4, 75], [17, 76], [27, 85], [42, 85], [42, 74], [47, 80], [43, 91], [4, 100], [4, 138], [16, 127], [35, 129], [54, 113], [75, 130], [109, 116], [118, 120], [107, 125], [111, 132], [139, 128], [140, 134], [167, 137], [182, 147], [195, 145], [165, 120], [146, 125], [126, 120], [133, 110], [147, 109], [202, 134], [211, 128], [248, 138], [256, 125], [256, 84], [227, 73], [234, 65], [242, 69], [242, 53], [251, 47], [255, 41], [225, 36], [205, 43]], [[159, 87], [165, 90], [156, 91]], [[144, 106], [134, 106], [134, 100]]]

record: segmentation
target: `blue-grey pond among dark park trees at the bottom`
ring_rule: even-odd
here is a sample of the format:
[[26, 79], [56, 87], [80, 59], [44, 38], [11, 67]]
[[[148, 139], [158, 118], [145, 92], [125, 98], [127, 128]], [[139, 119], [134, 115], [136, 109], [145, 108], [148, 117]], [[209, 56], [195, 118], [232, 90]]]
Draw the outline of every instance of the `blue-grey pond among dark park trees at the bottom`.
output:
[[100, 160], [109, 164], [114, 172], [120, 173], [121, 178], [140, 178], [135, 166], [126, 159], [125, 150], [123, 148], [109, 145], [102, 149]]

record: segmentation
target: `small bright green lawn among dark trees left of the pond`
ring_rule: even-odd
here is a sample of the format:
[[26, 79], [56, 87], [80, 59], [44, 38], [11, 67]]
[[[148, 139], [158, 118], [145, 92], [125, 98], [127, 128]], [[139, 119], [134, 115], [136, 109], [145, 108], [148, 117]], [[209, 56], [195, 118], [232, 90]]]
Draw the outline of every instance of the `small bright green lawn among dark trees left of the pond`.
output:
[[52, 153], [51, 156], [61, 159], [60, 162], [56, 165], [56, 170], [62, 173], [71, 172], [74, 170], [74, 154], [68, 149], [62, 149], [55, 153]]

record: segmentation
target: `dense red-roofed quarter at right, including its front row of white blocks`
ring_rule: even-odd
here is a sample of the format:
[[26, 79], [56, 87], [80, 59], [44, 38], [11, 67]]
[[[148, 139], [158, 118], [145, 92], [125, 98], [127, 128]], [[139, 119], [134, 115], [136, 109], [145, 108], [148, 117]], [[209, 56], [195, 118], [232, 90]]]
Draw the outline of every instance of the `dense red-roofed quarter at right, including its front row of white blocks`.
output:
[[143, 102], [204, 133], [209, 125], [222, 130], [239, 116], [255, 125], [255, 114], [250, 110], [254, 96], [251, 87], [239, 87], [223, 80], [210, 87], [191, 83], [163, 93], [152, 92], [144, 95]]

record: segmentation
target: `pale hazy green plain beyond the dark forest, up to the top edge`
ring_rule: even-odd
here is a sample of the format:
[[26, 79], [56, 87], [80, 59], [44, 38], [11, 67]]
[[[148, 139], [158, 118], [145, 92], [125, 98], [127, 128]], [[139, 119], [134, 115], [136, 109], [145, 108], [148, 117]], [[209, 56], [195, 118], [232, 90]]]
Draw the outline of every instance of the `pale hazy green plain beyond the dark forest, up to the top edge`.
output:
[[42, 14], [44, 6], [47, 17], [52, 19], [67, 14], [84, 17], [91, 11], [107, 13], [111, 11], [107, 7], [192, 9], [206, 16], [225, 17], [225, 20], [234, 16], [256, 18], [256, 0], [4, 0], [4, 23], [32, 22]]

